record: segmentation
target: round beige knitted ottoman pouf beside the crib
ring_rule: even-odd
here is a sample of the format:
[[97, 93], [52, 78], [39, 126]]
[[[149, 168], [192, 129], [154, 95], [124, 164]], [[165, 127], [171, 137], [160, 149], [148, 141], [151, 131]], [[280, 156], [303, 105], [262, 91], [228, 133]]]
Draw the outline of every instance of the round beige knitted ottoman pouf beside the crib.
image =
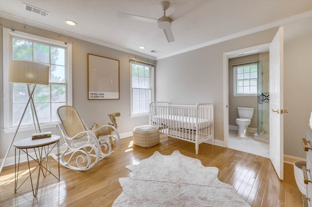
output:
[[159, 144], [159, 128], [151, 125], [135, 127], [133, 129], [133, 143], [145, 148]]

